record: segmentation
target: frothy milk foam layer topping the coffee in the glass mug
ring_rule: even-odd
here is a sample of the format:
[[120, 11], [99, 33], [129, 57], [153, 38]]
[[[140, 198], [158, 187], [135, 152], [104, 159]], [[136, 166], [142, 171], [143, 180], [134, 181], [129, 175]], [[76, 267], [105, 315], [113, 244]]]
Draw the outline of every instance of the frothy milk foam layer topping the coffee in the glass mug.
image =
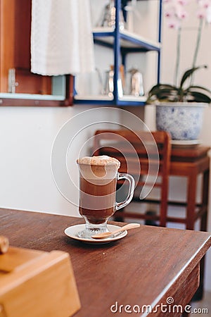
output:
[[80, 172], [87, 180], [112, 180], [116, 177], [117, 170], [120, 168], [120, 161], [117, 159], [101, 156], [84, 156], [77, 159]]

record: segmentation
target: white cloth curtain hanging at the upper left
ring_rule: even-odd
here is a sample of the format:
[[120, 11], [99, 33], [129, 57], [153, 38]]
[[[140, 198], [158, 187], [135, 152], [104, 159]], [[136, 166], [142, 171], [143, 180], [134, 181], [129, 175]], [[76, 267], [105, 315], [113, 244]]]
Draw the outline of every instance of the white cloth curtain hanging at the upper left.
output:
[[89, 0], [32, 0], [31, 70], [41, 75], [94, 70]]

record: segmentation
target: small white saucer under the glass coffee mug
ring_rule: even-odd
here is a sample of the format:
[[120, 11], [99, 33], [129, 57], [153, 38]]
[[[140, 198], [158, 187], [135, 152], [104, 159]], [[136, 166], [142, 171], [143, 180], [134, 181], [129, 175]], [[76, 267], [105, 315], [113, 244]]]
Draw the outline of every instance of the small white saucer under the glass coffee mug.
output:
[[[115, 231], [116, 229], [119, 229], [121, 227], [119, 227], [118, 225], [107, 225], [108, 230], [110, 232]], [[72, 225], [71, 227], [68, 227], [65, 229], [65, 235], [68, 235], [68, 237], [71, 237], [72, 239], [75, 240], [79, 240], [85, 243], [92, 243], [92, 244], [105, 244], [105, 243], [109, 243], [109, 242], [113, 242], [115, 240], [119, 240], [122, 239], [122, 237], [125, 237], [127, 235], [127, 230], [122, 231], [119, 235], [115, 236], [115, 237], [108, 237], [106, 239], [103, 240], [96, 240], [96, 239], [85, 239], [85, 238], [81, 238], [78, 237], [77, 233], [79, 231], [82, 231], [85, 229], [85, 225]]]

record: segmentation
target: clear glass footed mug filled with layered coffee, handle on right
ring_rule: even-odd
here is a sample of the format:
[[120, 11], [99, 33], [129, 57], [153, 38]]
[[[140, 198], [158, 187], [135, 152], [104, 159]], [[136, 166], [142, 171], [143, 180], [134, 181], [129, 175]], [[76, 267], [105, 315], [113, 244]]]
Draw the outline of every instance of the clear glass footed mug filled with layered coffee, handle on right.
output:
[[[134, 178], [118, 173], [120, 161], [110, 156], [85, 156], [77, 160], [79, 167], [79, 213], [85, 219], [85, 230], [78, 236], [108, 232], [107, 222], [115, 211], [127, 206], [134, 194]], [[128, 180], [127, 198], [116, 202], [117, 180]]]

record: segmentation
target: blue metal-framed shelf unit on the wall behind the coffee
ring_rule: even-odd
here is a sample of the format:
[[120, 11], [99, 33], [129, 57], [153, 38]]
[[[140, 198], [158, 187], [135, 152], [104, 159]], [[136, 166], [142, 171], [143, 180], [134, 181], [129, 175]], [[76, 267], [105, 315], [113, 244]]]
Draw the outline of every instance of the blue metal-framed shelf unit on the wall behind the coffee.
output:
[[107, 96], [89, 96], [80, 97], [75, 95], [74, 104], [98, 104], [98, 105], [116, 105], [116, 106], [144, 106], [146, 104], [146, 97], [119, 97], [117, 80], [120, 68], [120, 56], [122, 56], [122, 63], [125, 62], [125, 56], [134, 52], [158, 52], [158, 76], [157, 81], [160, 81], [160, 49], [161, 49], [161, 15], [162, 15], [162, 0], [159, 1], [159, 25], [158, 25], [158, 42], [145, 39], [140, 35], [136, 35], [127, 30], [120, 30], [120, 10], [121, 0], [115, 0], [115, 29], [107, 27], [96, 27], [93, 30], [94, 43], [106, 46], [114, 51], [114, 89], [113, 98]]

